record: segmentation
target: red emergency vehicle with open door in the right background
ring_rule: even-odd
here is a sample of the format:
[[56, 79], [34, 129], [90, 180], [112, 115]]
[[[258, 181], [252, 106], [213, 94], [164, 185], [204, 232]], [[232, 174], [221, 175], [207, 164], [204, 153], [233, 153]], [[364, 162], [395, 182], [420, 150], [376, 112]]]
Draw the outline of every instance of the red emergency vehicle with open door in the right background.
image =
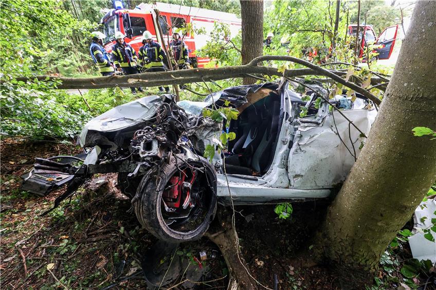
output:
[[[348, 26], [348, 35], [356, 37], [357, 24], [352, 24]], [[395, 40], [397, 37], [398, 25], [389, 26], [380, 33], [380, 35], [375, 36], [374, 29], [371, 25], [359, 25], [359, 42], [360, 42], [360, 52], [359, 57], [364, 57], [364, 48], [367, 45], [378, 45], [379, 47], [375, 49], [378, 55], [375, 56], [377, 60], [387, 60], [391, 57], [392, 51], [394, 49]], [[363, 37], [362, 37], [363, 36]], [[365, 61], [365, 60], [364, 60]]]

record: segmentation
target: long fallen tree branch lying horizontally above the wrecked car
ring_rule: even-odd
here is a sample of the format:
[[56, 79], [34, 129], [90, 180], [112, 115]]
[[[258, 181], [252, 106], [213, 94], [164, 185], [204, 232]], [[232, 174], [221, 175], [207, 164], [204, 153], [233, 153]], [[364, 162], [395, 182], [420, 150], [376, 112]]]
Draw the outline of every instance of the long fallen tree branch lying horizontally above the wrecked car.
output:
[[[258, 63], [263, 61], [287, 61], [294, 62], [307, 68], [285, 70], [279, 72], [277, 68], [258, 66]], [[303, 75], [324, 75], [334, 81], [355, 90], [362, 95], [365, 95], [369, 100], [379, 105], [381, 101], [372, 93], [357, 86], [354, 83], [347, 82], [340, 76], [345, 75], [345, 72], [328, 70], [310, 62], [297, 59], [292, 56], [280, 55], [264, 55], [256, 57], [250, 63], [241, 66], [229, 66], [220, 68], [195, 68], [186, 70], [166, 71], [166, 72], [144, 72], [134, 75], [112, 75], [99, 76], [95, 78], [64, 78], [59, 76], [39, 75], [35, 78], [17, 78], [18, 81], [39, 81], [53, 82], [61, 81], [57, 86], [58, 89], [99, 89], [108, 87], [157, 87], [163, 85], [181, 85], [187, 83], [195, 83], [200, 81], [218, 81], [231, 78], [244, 78], [247, 74], [258, 75], [277, 75], [285, 78], [292, 78]], [[371, 79], [372, 81], [372, 79]], [[374, 79], [377, 84], [381, 82], [380, 78]]]

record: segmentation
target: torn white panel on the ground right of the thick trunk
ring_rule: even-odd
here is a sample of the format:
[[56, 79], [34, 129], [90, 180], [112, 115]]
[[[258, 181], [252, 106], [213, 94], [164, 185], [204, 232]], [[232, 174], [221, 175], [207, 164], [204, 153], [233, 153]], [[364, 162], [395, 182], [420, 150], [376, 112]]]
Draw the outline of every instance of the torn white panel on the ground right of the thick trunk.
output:
[[[427, 240], [424, 237], [423, 229], [430, 228], [436, 219], [436, 199], [428, 199], [422, 202], [415, 210], [413, 235], [409, 237], [409, 245], [412, 256], [418, 260], [430, 260], [436, 263], [436, 242]], [[434, 232], [432, 233], [434, 235]]]

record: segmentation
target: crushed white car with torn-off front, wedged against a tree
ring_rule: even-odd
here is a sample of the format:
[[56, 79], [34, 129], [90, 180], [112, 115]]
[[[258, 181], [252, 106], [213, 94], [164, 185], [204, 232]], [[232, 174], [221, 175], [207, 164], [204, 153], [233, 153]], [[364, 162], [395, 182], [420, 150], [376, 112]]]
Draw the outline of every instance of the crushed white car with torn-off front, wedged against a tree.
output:
[[[140, 223], [170, 242], [201, 238], [216, 204], [231, 199], [329, 197], [358, 157], [376, 110], [359, 94], [353, 102], [345, 95], [329, 100], [320, 84], [307, 84], [303, 95], [289, 85], [231, 87], [204, 102], [177, 104], [172, 95], [152, 95], [118, 106], [82, 130], [83, 164], [65, 161], [77, 157], [37, 159], [23, 187], [44, 194], [68, 182], [56, 207], [94, 173], [118, 172]], [[224, 106], [238, 110], [238, 118], [215, 122], [202, 114]], [[234, 132], [235, 139], [221, 149], [223, 132]], [[210, 146], [215, 152], [208, 160]]]

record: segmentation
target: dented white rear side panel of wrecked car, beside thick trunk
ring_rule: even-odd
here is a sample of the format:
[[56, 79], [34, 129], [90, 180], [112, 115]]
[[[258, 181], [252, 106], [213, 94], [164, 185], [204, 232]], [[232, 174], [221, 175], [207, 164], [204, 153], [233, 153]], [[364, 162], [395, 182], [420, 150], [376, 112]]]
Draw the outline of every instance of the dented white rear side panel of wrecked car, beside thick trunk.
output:
[[[376, 111], [343, 110], [342, 113], [368, 134]], [[297, 128], [289, 152], [290, 186], [332, 188], [343, 182], [355, 162], [354, 155], [356, 158], [359, 155], [362, 142], [365, 139], [360, 132], [337, 111], [330, 112], [321, 126]]]

